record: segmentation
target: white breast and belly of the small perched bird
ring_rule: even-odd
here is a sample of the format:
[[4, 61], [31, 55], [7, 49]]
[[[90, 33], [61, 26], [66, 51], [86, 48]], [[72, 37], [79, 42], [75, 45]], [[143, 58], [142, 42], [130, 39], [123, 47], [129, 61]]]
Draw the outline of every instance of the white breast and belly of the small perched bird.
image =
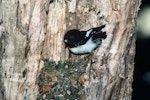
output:
[[92, 53], [92, 51], [100, 44], [95, 43], [92, 41], [92, 38], [90, 38], [84, 45], [80, 45], [78, 47], [69, 48], [71, 52], [75, 54], [84, 54], [84, 53]]

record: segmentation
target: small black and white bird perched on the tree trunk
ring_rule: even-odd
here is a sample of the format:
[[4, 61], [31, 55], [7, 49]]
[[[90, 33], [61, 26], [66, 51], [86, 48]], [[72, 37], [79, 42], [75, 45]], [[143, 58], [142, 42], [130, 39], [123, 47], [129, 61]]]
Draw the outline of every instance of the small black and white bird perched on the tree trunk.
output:
[[64, 35], [65, 47], [76, 55], [91, 54], [107, 37], [106, 32], [102, 32], [105, 25], [91, 28], [87, 31], [78, 29], [69, 30]]

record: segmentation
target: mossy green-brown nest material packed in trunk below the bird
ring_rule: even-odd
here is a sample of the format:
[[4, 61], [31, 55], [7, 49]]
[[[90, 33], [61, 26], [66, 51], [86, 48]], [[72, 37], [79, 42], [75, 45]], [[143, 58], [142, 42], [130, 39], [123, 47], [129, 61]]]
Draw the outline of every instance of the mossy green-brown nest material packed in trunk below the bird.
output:
[[43, 61], [44, 67], [36, 82], [39, 86], [37, 100], [79, 100], [85, 97], [83, 75], [88, 60]]

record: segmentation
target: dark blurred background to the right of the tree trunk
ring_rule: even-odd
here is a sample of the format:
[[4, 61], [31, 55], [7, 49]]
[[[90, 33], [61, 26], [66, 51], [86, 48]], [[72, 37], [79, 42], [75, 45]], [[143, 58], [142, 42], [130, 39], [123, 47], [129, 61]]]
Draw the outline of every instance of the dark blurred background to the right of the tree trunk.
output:
[[132, 100], [150, 100], [150, 0], [142, 0], [137, 18]]

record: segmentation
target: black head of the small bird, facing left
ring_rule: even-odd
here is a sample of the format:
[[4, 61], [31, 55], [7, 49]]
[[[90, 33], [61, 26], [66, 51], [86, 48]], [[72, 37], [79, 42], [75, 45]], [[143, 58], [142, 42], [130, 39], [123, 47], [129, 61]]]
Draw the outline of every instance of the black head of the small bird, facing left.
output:
[[65, 47], [75, 47], [76, 45], [76, 39], [78, 37], [78, 33], [80, 31], [73, 29], [73, 30], [69, 30], [68, 32], [66, 32], [66, 34], [64, 35], [64, 43], [65, 43]]

